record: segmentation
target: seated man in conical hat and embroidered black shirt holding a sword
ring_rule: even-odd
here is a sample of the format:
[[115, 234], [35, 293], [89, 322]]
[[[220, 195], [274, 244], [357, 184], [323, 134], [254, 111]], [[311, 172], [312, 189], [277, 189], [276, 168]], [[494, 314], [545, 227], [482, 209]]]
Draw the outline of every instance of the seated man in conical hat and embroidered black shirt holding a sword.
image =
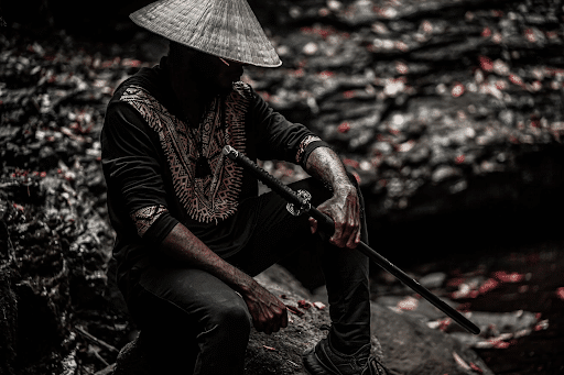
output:
[[[351, 250], [367, 240], [358, 187], [326, 143], [239, 81], [245, 65], [281, 64], [247, 2], [166, 0], [131, 19], [171, 41], [158, 66], [116, 90], [101, 134], [118, 284], [141, 327], [142, 355], [160, 373], [242, 374], [251, 324], [265, 333], [288, 327], [285, 306], [251, 276], [317, 246], [332, 327], [304, 365], [311, 374], [379, 374], [368, 260]], [[293, 188], [312, 192], [335, 220], [330, 243], [281, 198], [259, 197], [225, 145], [301, 164], [314, 178]]]

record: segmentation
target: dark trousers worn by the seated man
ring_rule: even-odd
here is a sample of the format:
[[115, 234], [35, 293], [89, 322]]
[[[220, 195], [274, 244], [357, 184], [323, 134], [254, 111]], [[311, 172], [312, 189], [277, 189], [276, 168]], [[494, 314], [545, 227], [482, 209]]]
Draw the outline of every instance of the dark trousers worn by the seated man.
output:
[[[310, 191], [314, 206], [332, 195], [313, 178], [291, 187]], [[261, 205], [253, 235], [226, 261], [256, 276], [294, 251], [317, 249], [329, 299], [332, 342], [356, 349], [369, 343], [368, 258], [312, 234], [307, 217], [290, 214], [274, 192], [257, 199]], [[364, 218], [362, 241], [367, 242]], [[206, 272], [165, 261], [137, 272], [133, 293], [127, 296], [129, 308], [141, 324], [140, 342], [161, 373], [243, 374], [252, 321], [234, 289]]]

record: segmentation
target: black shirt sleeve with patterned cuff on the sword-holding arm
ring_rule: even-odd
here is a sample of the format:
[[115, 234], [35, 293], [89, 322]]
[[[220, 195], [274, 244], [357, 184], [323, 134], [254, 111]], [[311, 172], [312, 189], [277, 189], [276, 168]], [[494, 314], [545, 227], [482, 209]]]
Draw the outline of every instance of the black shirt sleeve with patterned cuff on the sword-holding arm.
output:
[[303, 124], [290, 122], [275, 112], [254, 90], [250, 115], [257, 126], [257, 156], [261, 159], [286, 161], [305, 167], [315, 148], [330, 148]]

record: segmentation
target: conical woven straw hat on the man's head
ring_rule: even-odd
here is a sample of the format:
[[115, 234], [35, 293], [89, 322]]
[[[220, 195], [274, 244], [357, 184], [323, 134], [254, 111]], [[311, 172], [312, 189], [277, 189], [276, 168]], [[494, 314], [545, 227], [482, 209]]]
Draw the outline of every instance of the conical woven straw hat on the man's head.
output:
[[130, 14], [167, 40], [230, 60], [282, 65], [246, 0], [161, 0]]

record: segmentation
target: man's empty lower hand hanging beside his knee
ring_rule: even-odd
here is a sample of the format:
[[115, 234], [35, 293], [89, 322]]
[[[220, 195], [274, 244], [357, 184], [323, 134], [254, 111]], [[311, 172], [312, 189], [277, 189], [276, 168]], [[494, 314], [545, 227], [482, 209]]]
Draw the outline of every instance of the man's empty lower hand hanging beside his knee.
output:
[[288, 310], [284, 304], [258, 283], [242, 294], [259, 332], [271, 334], [288, 327]]

